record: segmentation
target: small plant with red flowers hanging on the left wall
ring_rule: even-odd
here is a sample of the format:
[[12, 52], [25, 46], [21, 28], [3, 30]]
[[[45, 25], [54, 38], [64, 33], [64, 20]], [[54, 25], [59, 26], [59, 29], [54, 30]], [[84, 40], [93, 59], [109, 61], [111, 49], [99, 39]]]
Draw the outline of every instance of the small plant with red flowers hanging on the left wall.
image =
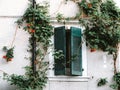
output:
[[12, 61], [12, 59], [14, 57], [14, 55], [13, 55], [14, 47], [8, 49], [5, 46], [5, 47], [3, 47], [3, 51], [6, 52], [6, 55], [4, 55], [3, 58], [6, 59], [7, 62]]

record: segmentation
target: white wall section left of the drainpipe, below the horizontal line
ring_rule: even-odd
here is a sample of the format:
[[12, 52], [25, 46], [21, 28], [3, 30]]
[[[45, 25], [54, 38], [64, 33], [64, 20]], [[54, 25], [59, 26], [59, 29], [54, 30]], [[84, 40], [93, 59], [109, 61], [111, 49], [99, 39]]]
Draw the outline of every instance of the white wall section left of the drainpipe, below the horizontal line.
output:
[[[28, 48], [28, 33], [17, 29], [16, 39], [13, 46], [14, 49], [14, 59], [11, 62], [6, 62], [2, 57], [5, 55], [2, 48], [3, 46], [11, 47], [13, 41], [13, 36], [16, 30], [15, 21], [17, 18], [0, 18], [0, 76], [2, 76], [2, 71], [8, 74], [24, 74], [24, 69], [26, 65], [29, 65], [29, 61], [25, 60], [25, 57], [29, 56], [26, 51]], [[11, 86], [0, 78], [0, 90], [13, 90]]]

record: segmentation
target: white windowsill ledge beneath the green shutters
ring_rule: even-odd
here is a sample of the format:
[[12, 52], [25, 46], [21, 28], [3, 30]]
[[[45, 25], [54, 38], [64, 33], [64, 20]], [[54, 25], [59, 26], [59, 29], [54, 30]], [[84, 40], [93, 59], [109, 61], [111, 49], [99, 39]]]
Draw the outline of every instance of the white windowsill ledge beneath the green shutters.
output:
[[89, 76], [53, 76], [48, 77], [49, 81], [58, 82], [88, 82]]

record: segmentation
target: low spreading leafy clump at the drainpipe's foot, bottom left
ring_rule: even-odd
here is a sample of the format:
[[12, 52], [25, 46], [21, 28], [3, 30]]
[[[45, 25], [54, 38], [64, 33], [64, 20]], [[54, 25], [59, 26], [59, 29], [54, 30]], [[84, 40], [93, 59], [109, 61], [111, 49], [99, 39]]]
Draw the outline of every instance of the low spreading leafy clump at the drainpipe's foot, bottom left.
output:
[[40, 71], [34, 74], [31, 67], [25, 67], [25, 69], [25, 75], [5, 74], [4, 80], [10, 82], [11, 85], [16, 85], [17, 90], [43, 90], [47, 82], [46, 73]]

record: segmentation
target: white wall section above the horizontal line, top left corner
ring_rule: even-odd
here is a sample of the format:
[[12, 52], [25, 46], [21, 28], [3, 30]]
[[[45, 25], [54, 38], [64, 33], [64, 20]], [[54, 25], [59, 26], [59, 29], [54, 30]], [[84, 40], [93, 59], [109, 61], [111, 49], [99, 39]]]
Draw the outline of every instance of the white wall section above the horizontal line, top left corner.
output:
[[19, 16], [27, 8], [28, 0], [0, 0], [0, 16]]

